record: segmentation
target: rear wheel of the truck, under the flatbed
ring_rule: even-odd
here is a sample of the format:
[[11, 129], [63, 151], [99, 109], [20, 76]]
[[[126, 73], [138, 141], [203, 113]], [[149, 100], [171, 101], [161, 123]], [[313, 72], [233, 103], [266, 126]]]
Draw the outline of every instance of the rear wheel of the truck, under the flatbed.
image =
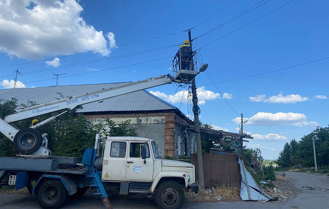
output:
[[59, 180], [45, 180], [37, 190], [36, 200], [44, 209], [56, 209], [68, 198], [67, 191]]

